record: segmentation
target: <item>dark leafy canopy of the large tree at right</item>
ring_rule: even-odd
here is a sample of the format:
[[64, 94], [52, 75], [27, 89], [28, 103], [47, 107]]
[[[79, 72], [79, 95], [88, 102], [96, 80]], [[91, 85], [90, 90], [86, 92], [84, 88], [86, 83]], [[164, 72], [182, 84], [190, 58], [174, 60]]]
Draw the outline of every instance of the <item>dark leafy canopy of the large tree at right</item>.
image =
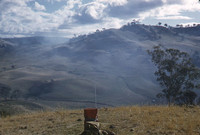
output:
[[192, 63], [188, 53], [159, 45], [148, 50], [148, 54], [157, 67], [157, 81], [163, 87], [158, 96], [165, 97], [169, 105], [198, 87], [200, 70]]

